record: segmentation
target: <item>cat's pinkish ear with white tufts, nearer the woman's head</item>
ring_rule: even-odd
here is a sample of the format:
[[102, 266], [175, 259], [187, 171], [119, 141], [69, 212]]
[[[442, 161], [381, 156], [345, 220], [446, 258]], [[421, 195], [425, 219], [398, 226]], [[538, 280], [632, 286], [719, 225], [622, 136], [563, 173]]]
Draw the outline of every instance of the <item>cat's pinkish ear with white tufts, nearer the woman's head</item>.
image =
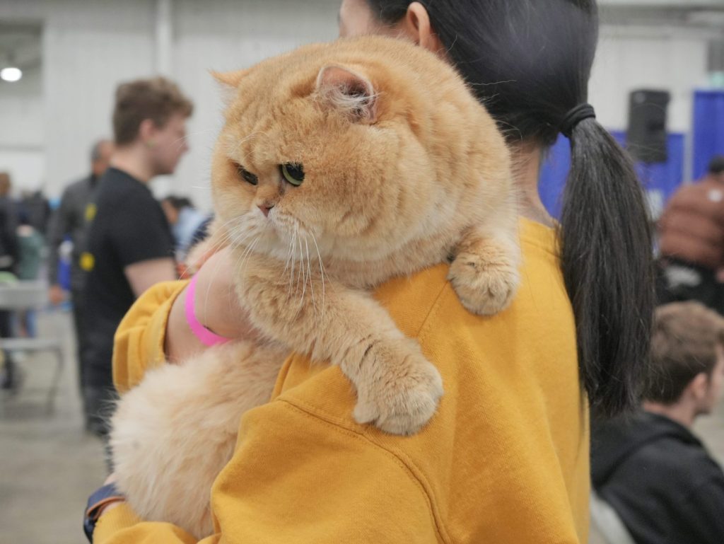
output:
[[347, 67], [327, 64], [319, 70], [316, 92], [324, 104], [340, 110], [355, 122], [377, 120], [377, 93], [371, 81]]

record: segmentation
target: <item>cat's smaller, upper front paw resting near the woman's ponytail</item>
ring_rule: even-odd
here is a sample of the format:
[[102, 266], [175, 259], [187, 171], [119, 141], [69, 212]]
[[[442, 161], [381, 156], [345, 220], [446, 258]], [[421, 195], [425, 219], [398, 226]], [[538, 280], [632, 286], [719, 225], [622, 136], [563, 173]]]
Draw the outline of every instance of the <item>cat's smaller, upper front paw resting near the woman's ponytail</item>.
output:
[[521, 281], [518, 262], [504, 251], [460, 253], [452, 261], [447, 279], [463, 306], [478, 315], [507, 308]]

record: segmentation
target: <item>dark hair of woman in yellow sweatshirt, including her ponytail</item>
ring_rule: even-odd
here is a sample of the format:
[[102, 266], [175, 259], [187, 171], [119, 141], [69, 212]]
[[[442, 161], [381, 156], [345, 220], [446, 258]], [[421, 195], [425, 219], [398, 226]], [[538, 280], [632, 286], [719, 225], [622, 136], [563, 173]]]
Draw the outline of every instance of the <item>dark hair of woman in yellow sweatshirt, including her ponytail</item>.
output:
[[[367, 0], [394, 23], [410, 1]], [[594, 0], [420, 0], [452, 64], [509, 143], [555, 143], [585, 104], [598, 39]], [[592, 408], [636, 403], [654, 306], [651, 228], [628, 155], [589, 118], [571, 130], [559, 238]]]

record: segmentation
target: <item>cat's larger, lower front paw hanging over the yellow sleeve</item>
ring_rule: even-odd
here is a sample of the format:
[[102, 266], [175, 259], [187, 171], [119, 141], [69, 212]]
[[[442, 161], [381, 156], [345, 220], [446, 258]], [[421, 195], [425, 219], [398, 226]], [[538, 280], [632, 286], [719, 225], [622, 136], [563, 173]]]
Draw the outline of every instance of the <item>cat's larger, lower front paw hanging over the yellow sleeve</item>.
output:
[[354, 417], [393, 435], [418, 432], [435, 413], [442, 377], [413, 340], [380, 343], [371, 348], [375, 375], [357, 388]]

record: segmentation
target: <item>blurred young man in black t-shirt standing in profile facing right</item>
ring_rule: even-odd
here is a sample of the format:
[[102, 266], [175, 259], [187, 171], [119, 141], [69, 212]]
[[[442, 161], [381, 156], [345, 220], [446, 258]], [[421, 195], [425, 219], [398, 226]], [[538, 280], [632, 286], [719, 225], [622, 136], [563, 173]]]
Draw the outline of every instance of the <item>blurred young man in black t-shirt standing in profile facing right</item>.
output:
[[114, 396], [113, 337], [135, 299], [151, 285], [177, 277], [169, 223], [148, 183], [172, 174], [188, 151], [186, 120], [193, 104], [165, 78], [119, 85], [113, 112], [114, 151], [98, 183], [80, 264], [88, 272], [83, 334], [85, 403], [90, 431], [107, 434]]

